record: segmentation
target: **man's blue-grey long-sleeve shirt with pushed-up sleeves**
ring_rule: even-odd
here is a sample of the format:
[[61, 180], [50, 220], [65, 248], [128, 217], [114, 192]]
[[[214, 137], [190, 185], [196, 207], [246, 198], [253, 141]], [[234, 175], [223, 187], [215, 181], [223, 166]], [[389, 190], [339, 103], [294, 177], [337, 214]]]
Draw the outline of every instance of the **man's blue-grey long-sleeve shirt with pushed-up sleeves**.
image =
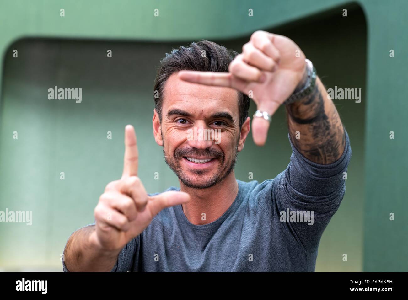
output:
[[345, 193], [350, 142], [346, 133], [341, 158], [322, 165], [289, 141], [285, 171], [262, 183], [237, 180], [236, 199], [209, 224], [191, 224], [181, 205], [163, 209], [111, 271], [314, 271], [320, 238]]

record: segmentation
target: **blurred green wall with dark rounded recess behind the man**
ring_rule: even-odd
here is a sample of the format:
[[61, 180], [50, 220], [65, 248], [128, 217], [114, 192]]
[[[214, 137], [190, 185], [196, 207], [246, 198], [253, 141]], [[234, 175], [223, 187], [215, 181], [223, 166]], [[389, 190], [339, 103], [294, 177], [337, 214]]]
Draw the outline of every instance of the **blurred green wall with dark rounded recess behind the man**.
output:
[[[136, 129], [146, 190], [178, 186], [152, 134], [160, 59], [200, 39], [241, 52], [262, 29], [294, 40], [327, 88], [362, 90], [361, 103], [334, 101], [353, 156], [316, 271], [408, 271], [407, 10], [402, 0], [1, 2], [0, 210], [31, 210], [33, 224], [0, 223], [0, 269], [62, 271], [69, 235], [93, 222], [105, 185], [120, 178], [126, 124]], [[82, 88], [82, 103], [48, 100], [55, 85]], [[265, 147], [247, 139], [237, 179], [274, 178], [290, 153], [281, 107]]]

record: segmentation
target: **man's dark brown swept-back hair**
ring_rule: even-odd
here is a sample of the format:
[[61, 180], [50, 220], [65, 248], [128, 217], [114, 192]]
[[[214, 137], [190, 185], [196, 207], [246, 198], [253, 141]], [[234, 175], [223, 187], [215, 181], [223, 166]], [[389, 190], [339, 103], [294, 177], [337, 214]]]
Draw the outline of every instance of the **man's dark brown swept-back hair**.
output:
[[[205, 56], [202, 56], [202, 51]], [[155, 98], [155, 108], [162, 120], [162, 103], [164, 95], [164, 84], [167, 79], [177, 71], [207, 71], [207, 72], [228, 72], [228, 65], [237, 56], [237, 52], [228, 50], [224, 46], [200, 40], [192, 42], [188, 47], [180, 46], [179, 49], [173, 49], [160, 61], [160, 67], [154, 83], [154, 93], [158, 92], [158, 98]], [[239, 128], [248, 118], [249, 97], [244, 93], [238, 93], [239, 107]]]

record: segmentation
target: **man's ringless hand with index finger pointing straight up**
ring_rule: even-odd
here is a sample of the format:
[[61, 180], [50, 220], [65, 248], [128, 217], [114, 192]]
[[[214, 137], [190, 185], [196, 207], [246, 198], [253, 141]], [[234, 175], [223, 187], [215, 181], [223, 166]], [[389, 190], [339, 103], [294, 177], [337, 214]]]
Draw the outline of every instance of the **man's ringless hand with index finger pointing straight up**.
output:
[[119, 251], [162, 209], [190, 199], [187, 193], [177, 191], [148, 196], [137, 177], [138, 158], [135, 130], [127, 125], [122, 178], [109, 182], [94, 211], [96, 230], [91, 239], [106, 251]]

